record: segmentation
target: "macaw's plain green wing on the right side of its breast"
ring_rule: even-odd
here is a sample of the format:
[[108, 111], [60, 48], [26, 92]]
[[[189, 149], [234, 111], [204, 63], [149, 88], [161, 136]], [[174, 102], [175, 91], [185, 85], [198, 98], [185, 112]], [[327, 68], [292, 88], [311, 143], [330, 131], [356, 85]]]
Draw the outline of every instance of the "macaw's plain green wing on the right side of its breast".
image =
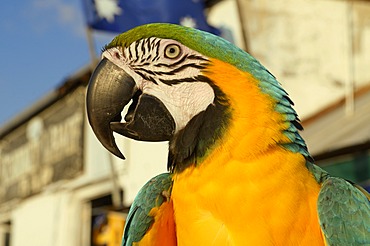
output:
[[328, 245], [370, 245], [370, 202], [344, 179], [324, 180], [318, 214]]

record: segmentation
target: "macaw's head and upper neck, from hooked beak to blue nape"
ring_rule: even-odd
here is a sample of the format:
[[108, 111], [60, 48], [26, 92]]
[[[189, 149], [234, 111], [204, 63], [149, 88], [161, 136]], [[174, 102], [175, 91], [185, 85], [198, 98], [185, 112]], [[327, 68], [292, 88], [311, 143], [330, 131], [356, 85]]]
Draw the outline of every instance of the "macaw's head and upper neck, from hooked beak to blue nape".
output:
[[309, 159], [291, 104], [275, 77], [248, 53], [173, 24], [139, 26], [114, 38], [87, 91], [90, 124], [110, 152], [124, 158], [113, 132], [169, 141], [169, 169], [180, 171], [235, 141], [250, 145], [240, 158], [278, 145]]

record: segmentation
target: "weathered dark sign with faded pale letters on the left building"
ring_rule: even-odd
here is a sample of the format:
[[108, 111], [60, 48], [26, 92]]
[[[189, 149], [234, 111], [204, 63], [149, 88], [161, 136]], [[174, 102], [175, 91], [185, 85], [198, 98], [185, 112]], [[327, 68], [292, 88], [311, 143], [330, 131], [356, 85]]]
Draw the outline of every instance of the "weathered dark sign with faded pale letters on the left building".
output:
[[0, 204], [81, 173], [83, 119], [79, 88], [1, 139]]

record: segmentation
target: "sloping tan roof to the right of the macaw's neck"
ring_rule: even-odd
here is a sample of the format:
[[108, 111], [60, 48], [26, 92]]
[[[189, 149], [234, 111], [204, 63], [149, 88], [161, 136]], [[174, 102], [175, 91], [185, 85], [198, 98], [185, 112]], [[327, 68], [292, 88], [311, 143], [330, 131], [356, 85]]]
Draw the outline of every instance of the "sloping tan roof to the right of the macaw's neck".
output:
[[302, 125], [302, 136], [314, 156], [370, 148], [370, 84], [355, 92], [352, 114], [346, 114], [343, 97]]

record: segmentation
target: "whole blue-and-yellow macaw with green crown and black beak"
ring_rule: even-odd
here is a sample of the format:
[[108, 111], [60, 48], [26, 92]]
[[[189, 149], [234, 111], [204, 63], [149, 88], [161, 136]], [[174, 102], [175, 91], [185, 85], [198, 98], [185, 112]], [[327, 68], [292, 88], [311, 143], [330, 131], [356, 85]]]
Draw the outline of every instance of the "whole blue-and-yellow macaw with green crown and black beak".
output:
[[370, 245], [369, 194], [313, 164], [292, 104], [212, 34], [149, 24], [114, 38], [87, 92], [96, 136], [121, 158], [113, 131], [169, 141], [169, 173], [140, 190], [122, 244]]

